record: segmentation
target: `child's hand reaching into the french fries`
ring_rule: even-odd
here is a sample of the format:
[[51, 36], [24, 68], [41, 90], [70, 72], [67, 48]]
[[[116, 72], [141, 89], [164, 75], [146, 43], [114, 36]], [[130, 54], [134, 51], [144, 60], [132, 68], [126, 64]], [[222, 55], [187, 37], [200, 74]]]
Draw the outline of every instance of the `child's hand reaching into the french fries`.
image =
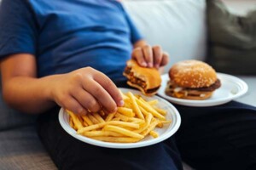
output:
[[84, 115], [101, 109], [110, 113], [123, 105], [122, 96], [114, 83], [102, 72], [90, 67], [59, 75], [49, 86], [52, 88], [52, 99], [74, 113]]

